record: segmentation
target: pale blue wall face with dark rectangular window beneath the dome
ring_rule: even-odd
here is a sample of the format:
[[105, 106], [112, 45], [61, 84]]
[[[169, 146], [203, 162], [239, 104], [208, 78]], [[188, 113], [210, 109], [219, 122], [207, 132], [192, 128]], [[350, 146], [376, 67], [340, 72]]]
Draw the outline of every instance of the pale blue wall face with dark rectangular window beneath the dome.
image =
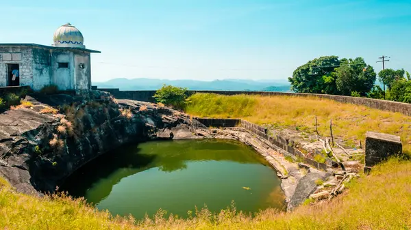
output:
[[[69, 68], [58, 68], [59, 62], [69, 63]], [[52, 82], [60, 90], [74, 89], [74, 54], [70, 51], [53, 51], [51, 53]]]

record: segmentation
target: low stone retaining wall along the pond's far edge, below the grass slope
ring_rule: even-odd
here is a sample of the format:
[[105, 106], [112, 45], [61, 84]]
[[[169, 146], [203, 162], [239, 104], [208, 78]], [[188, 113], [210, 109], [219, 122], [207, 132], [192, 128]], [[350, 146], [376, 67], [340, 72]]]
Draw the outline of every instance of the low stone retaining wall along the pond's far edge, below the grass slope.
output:
[[195, 119], [197, 119], [197, 121], [201, 122], [201, 124], [207, 127], [228, 128], [240, 126], [242, 128], [245, 128], [249, 132], [256, 134], [257, 136], [260, 136], [260, 138], [269, 141], [271, 144], [284, 149], [284, 152], [282, 152], [282, 154], [292, 155], [296, 158], [303, 159], [303, 162], [312, 165], [316, 169], [325, 170], [330, 167], [327, 164], [316, 162], [315, 160], [304, 156], [304, 154], [299, 149], [297, 149], [297, 147], [295, 147], [295, 143], [293, 140], [286, 139], [283, 136], [279, 135], [270, 136], [266, 128], [253, 124], [249, 121], [245, 121], [242, 119], [214, 119], [198, 117], [195, 117]]

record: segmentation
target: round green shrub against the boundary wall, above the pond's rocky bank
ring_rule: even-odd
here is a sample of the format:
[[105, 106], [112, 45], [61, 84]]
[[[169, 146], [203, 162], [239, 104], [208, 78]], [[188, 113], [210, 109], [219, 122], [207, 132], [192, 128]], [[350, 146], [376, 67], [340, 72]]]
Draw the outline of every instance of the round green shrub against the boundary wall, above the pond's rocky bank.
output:
[[163, 85], [155, 92], [153, 98], [158, 103], [172, 106], [174, 109], [184, 109], [186, 107], [186, 88]]

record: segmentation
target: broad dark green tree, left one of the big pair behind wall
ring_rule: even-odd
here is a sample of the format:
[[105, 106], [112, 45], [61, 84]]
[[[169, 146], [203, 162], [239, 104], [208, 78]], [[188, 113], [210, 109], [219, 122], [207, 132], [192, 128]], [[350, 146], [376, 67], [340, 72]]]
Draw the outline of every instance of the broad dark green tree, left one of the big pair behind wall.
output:
[[299, 66], [288, 78], [291, 89], [298, 93], [337, 94], [334, 69], [340, 65], [337, 56], [319, 57]]

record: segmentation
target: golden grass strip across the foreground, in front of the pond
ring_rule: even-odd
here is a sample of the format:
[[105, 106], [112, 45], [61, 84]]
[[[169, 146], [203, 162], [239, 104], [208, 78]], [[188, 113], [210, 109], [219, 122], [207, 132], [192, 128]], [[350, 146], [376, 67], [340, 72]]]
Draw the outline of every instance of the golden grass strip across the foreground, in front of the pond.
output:
[[293, 212], [264, 210], [255, 217], [229, 207], [219, 214], [194, 211], [192, 218], [112, 217], [82, 200], [23, 195], [0, 179], [1, 229], [410, 229], [411, 162], [391, 159], [348, 184], [329, 203]]

